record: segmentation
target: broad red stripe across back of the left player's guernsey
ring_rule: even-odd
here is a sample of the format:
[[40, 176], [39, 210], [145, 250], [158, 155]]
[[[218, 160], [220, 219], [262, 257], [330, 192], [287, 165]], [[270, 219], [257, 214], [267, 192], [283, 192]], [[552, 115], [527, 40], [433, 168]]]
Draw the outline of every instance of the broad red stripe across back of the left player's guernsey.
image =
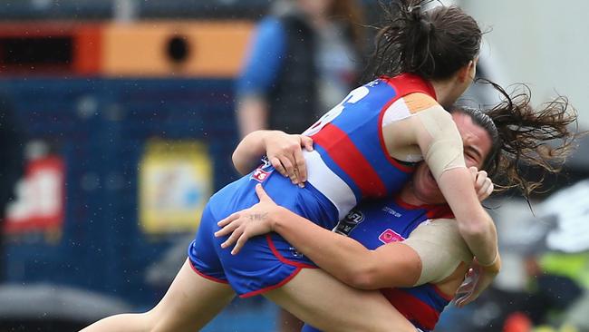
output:
[[[328, 123], [313, 136], [313, 142], [319, 144], [342, 170], [352, 178], [352, 181], [362, 191], [362, 196], [381, 197], [386, 195], [387, 189], [379, 175], [372, 169], [370, 162], [364, 158], [350, 137]], [[333, 148], [337, 145], [337, 148]]]

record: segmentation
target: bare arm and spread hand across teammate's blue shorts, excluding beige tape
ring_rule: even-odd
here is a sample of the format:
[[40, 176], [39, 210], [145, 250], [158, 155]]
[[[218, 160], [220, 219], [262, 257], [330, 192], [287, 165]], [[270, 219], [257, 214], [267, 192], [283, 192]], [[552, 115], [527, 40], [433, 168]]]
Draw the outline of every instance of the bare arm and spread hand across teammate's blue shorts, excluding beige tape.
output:
[[276, 231], [319, 267], [353, 288], [409, 287], [420, 278], [420, 258], [408, 246], [397, 243], [366, 249], [354, 239], [323, 229], [277, 206], [261, 186], [256, 186], [256, 192], [259, 203], [218, 223], [224, 228], [215, 236], [231, 233], [222, 247], [237, 242], [233, 254], [237, 254], [246, 239]]

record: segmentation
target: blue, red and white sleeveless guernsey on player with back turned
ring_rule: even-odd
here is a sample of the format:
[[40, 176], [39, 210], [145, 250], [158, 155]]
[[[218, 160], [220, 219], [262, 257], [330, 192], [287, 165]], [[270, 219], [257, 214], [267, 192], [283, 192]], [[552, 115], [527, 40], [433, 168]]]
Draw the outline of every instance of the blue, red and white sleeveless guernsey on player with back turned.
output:
[[419, 76], [383, 77], [353, 90], [304, 132], [315, 143], [315, 151], [304, 152], [308, 181], [333, 203], [340, 219], [360, 200], [391, 195], [409, 180], [413, 167], [386, 151], [382, 120], [392, 103], [410, 93], [435, 99], [433, 87]]

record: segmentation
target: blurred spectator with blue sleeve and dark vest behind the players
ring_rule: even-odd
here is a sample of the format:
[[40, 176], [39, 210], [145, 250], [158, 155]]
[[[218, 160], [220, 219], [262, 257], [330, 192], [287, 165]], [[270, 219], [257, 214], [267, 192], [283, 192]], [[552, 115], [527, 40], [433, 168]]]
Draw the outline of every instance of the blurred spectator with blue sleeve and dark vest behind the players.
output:
[[237, 80], [242, 136], [304, 132], [357, 83], [362, 10], [355, 0], [282, 0], [257, 27]]

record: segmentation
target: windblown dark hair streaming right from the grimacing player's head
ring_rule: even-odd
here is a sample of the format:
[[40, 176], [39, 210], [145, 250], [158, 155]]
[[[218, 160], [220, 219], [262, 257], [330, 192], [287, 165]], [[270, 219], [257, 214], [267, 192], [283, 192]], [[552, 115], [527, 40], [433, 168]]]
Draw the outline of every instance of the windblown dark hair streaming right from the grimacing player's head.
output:
[[[516, 188], [528, 199], [548, 173], [561, 171], [573, 150], [578, 135], [577, 113], [564, 96], [544, 103], [536, 111], [530, 105], [526, 85], [522, 84], [510, 96], [496, 83], [486, 83], [503, 95], [501, 103], [487, 112], [462, 106], [451, 112], [468, 114], [490, 135], [493, 144], [483, 169], [488, 171], [497, 191]], [[530, 179], [526, 166], [538, 169], [539, 178]]]

